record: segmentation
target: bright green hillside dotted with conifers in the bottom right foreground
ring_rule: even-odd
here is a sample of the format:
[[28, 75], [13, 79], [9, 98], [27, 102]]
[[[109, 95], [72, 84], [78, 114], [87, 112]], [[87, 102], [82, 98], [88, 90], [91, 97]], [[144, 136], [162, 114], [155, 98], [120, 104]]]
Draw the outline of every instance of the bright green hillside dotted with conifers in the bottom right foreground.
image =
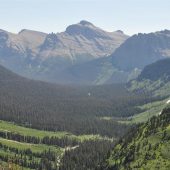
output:
[[170, 168], [170, 107], [138, 125], [114, 147], [108, 170]]

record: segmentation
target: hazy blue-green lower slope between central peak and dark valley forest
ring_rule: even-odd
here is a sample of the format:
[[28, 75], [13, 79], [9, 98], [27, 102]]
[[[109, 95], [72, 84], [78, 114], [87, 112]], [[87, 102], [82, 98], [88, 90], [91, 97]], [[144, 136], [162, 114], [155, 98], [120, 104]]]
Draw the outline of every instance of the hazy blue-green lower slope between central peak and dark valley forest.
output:
[[[103, 57], [65, 69], [60, 80], [65, 83], [94, 85], [124, 83], [136, 78], [138, 73], [138, 69], [131, 72], [119, 70], [112, 64], [110, 57]], [[54, 80], [54, 77], [51, 80]]]

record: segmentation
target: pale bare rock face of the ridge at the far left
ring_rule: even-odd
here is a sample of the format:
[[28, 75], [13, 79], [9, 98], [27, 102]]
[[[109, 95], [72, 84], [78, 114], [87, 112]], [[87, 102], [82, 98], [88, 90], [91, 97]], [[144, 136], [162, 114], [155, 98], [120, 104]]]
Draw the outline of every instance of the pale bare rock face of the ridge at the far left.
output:
[[38, 47], [45, 40], [45, 36], [46, 34], [44, 33], [30, 30], [22, 30], [18, 34], [1, 30], [0, 57], [8, 58], [14, 55], [26, 57], [28, 51], [36, 56], [38, 54]]

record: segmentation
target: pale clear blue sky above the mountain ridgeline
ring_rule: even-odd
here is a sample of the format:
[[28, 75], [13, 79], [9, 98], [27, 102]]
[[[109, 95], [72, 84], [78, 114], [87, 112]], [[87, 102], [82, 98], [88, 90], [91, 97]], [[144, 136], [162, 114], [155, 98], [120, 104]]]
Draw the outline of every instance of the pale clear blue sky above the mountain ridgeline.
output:
[[170, 29], [170, 0], [0, 0], [0, 28], [62, 32], [80, 20], [126, 34]]

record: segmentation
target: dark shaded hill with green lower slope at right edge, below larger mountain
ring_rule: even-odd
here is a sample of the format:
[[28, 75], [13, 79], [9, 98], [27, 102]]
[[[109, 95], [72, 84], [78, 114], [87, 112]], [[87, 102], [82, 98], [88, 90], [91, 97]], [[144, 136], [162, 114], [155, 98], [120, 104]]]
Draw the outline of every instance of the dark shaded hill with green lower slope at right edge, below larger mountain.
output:
[[170, 95], [170, 58], [146, 66], [135, 80], [128, 83], [131, 91], [145, 91], [154, 96]]

